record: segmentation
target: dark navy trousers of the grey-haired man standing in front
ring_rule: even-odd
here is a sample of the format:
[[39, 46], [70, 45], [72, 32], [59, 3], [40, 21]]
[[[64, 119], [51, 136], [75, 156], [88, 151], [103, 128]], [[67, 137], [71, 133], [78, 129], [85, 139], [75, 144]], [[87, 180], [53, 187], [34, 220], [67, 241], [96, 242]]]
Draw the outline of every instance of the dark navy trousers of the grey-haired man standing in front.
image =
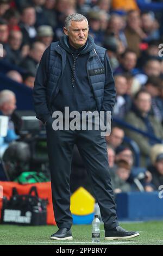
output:
[[53, 118], [46, 123], [47, 148], [51, 169], [52, 199], [55, 221], [58, 228], [70, 229], [70, 174], [74, 144], [83, 158], [89, 174], [92, 191], [101, 210], [104, 228], [118, 225], [116, 205], [109, 174], [105, 137], [101, 131], [54, 131]]

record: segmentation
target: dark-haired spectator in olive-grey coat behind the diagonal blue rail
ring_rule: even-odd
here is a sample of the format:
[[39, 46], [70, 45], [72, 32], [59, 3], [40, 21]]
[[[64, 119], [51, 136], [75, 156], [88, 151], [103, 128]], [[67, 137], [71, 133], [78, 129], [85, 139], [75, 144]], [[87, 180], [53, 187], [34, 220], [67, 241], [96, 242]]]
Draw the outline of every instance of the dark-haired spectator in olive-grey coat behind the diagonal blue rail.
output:
[[[137, 92], [134, 96], [134, 103], [131, 111], [126, 115], [125, 120], [135, 128], [147, 132], [151, 136], [163, 139], [161, 123], [153, 115], [149, 114], [152, 106], [151, 101], [151, 94], [145, 90]], [[147, 166], [151, 147], [155, 144], [154, 139], [145, 137], [141, 135], [141, 133], [129, 129], [126, 130], [126, 135], [139, 145], [141, 166]]]

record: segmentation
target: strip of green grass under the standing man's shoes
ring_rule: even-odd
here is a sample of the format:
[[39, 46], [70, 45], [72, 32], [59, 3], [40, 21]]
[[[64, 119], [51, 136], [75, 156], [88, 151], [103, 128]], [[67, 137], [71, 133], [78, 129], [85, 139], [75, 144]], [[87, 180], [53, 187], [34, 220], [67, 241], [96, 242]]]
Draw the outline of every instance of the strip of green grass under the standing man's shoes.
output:
[[[121, 226], [128, 230], [140, 231], [140, 236], [129, 240], [106, 241], [101, 224], [101, 242], [98, 245], [163, 245], [163, 221], [121, 223]], [[91, 225], [73, 225], [72, 241], [50, 240], [50, 235], [57, 229], [52, 225], [40, 227], [0, 225], [0, 245], [93, 245]]]

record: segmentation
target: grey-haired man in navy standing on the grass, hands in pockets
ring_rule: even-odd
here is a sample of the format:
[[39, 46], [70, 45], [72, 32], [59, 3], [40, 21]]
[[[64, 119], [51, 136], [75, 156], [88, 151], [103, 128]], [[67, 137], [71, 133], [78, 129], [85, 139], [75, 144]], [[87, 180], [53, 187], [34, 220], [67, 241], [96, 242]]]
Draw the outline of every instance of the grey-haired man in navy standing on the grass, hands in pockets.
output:
[[[72, 239], [70, 172], [72, 150], [77, 144], [101, 209], [105, 239], [138, 236], [121, 228], [109, 174], [105, 137], [101, 130], [54, 130], [55, 111], [112, 111], [115, 86], [106, 49], [88, 36], [89, 26], [81, 14], [65, 20], [64, 36], [43, 53], [34, 84], [36, 117], [46, 126], [55, 221], [59, 230], [51, 239]], [[53, 117], [52, 117], [53, 115]]]

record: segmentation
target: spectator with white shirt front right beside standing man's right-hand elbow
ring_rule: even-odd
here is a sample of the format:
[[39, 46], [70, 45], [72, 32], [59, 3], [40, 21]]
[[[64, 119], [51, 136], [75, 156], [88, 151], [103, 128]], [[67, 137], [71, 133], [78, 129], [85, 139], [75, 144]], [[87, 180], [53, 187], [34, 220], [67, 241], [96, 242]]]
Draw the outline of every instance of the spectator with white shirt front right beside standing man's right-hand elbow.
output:
[[127, 95], [127, 79], [123, 75], [116, 75], [114, 79], [117, 95], [113, 109], [113, 117], [123, 119], [131, 105], [130, 96]]

